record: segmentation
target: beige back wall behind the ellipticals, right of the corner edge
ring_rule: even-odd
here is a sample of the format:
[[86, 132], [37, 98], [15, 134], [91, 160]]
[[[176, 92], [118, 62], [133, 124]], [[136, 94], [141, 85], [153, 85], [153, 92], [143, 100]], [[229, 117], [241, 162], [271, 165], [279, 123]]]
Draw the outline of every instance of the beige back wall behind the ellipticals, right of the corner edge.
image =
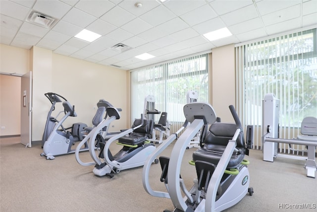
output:
[[[77, 117], [69, 117], [65, 123], [76, 122], [92, 126], [97, 102], [105, 99], [121, 108], [121, 118], [115, 120], [109, 131], [127, 128], [127, 71], [106, 67], [83, 60], [53, 54], [52, 90], [75, 106]], [[42, 94], [44, 96], [44, 92]], [[66, 126], [67, 126], [66, 124]]]

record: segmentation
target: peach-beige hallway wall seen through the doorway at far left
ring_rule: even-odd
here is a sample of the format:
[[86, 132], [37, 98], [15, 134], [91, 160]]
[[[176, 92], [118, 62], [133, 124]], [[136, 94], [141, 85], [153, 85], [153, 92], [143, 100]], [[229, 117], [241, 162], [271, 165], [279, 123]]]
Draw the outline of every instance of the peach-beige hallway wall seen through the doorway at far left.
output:
[[20, 135], [20, 92], [21, 78], [19, 76], [0, 74], [0, 136]]

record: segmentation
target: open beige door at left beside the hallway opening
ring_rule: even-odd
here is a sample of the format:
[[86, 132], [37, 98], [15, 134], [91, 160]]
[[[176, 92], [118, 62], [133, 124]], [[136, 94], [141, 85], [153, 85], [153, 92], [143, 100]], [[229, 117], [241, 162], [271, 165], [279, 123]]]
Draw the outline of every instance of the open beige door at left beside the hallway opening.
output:
[[32, 71], [21, 78], [21, 143], [32, 146]]

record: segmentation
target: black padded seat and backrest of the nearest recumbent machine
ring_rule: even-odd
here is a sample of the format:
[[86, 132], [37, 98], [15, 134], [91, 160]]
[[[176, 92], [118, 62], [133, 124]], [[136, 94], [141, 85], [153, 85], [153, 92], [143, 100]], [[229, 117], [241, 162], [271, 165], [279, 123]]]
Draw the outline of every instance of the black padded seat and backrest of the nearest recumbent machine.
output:
[[[206, 136], [203, 138], [204, 140], [202, 142], [205, 143], [205, 145], [193, 153], [193, 160], [202, 160], [217, 165], [228, 141], [234, 136], [236, 129], [237, 127], [235, 124], [213, 123]], [[236, 148], [240, 150], [240, 154], [233, 154], [231, 156], [227, 168], [239, 166], [244, 158], [245, 145], [242, 131], [238, 136]]]

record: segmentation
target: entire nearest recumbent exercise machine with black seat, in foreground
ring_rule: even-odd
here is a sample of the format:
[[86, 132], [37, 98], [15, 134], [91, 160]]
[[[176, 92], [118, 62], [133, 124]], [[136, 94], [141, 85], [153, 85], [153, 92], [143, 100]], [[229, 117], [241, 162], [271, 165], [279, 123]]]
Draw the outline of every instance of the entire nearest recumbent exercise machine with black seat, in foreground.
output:
[[[249, 161], [244, 159], [248, 146], [245, 146], [242, 126], [234, 107], [231, 105], [229, 109], [235, 124], [215, 123], [215, 112], [208, 103], [194, 102], [184, 106], [186, 120], [191, 124], [175, 142], [171, 157], [159, 158], [162, 168], [160, 180], [167, 192], [151, 188], [150, 161], [175, 140], [178, 133], [160, 144], [161, 148], [157, 148], [144, 165], [143, 186], [150, 195], [170, 198], [174, 212], [218, 212], [237, 204], [248, 192], [253, 194], [253, 188], [249, 188]], [[208, 125], [211, 125], [209, 129]], [[202, 147], [193, 153], [190, 161], [196, 167], [197, 179], [188, 191], [180, 175], [181, 161], [186, 146], [202, 127]]]

